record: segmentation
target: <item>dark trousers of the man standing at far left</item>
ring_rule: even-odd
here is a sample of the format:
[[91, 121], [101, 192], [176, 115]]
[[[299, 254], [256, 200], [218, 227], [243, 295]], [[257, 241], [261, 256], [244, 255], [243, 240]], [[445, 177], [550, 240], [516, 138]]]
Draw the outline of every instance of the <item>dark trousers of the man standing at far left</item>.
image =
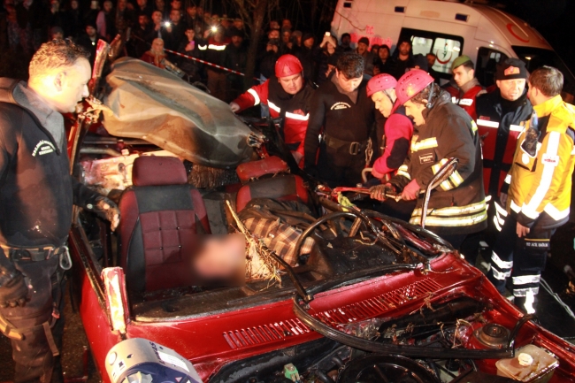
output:
[[0, 308], [0, 314], [23, 335], [21, 340], [11, 339], [14, 382], [48, 383], [53, 373], [61, 381], [58, 350], [64, 319], [58, 319], [63, 302], [58, 257], [39, 262], [19, 260], [14, 265], [26, 278], [29, 296], [23, 307]]

